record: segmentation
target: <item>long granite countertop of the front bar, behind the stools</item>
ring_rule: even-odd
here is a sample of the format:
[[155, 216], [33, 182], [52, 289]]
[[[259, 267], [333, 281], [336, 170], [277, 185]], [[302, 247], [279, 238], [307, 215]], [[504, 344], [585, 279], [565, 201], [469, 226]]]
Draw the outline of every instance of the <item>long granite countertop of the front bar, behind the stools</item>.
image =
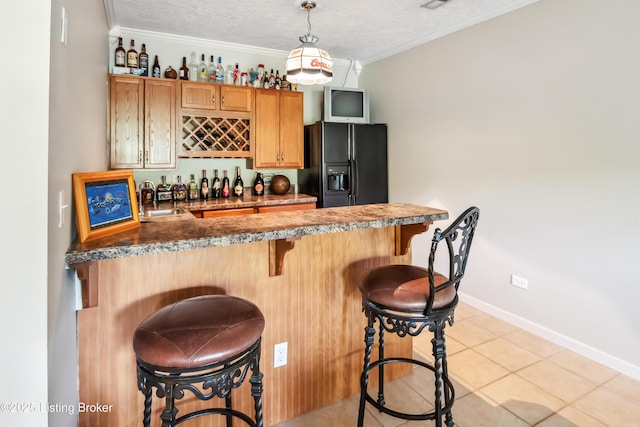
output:
[[135, 230], [85, 243], [75, 242], [65, 254], [65, 261], [67, 265], [74, 265], [154, 253], [418, 224], [447, 218], [447, 212], [441, 209], [406, 203], [384, 203], [171, 223], [149, 222], [141, 224]]

